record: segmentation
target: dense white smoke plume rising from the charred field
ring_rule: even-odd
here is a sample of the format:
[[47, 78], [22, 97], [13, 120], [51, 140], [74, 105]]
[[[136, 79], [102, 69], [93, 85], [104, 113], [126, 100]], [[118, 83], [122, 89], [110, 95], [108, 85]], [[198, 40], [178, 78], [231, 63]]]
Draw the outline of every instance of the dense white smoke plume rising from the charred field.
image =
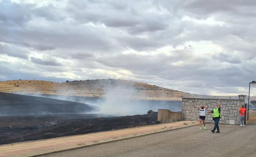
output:
[[181, 110], [181, 101], [136, 100], [132, 98], [136, 92], [130, 86], [117, 86], [108, 90], [105, 101], [96, 105], [99, 106], [100, 113], [114, 116], [141, 115], [149, 110], [157, 112], [159, 108], [175, 112]]

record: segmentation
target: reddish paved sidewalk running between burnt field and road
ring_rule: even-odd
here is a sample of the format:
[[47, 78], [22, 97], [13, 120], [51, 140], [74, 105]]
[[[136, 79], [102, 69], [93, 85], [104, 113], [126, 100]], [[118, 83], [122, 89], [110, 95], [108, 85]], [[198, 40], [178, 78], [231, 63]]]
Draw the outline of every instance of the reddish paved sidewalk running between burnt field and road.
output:
[[[185, 125], [185, 123], [187, 125]], [[64, 150], [93, 146], [107, 142], [128, 139], [152, 133], [159, 133], [177, 128], [197, 125], [198, 122], [181, 121], [168, 124], [158, 124], [135, 128], [126, 128], [114, 131], [90, 133], [85, 135], [75, 135], [44, 139], [37, 141], [21, 142], [0, 146], [0, 157], [34, 157], [44, 154], [55, 153]]]

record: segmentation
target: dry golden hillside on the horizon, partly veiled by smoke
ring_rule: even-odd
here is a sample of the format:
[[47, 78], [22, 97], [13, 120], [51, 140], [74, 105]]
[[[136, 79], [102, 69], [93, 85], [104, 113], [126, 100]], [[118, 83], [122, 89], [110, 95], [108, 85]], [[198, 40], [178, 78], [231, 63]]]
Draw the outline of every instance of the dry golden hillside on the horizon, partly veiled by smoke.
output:
[[10, 80], [0, 82], [0, 92], [84, 97], [105, 97], [106, 95], [111, 95], [146, 100], [181, 100], [182, 97], [217, 97], [194, 95], [155, 85], [116, 79], [80, 80], [63, 83], [42, 80]]

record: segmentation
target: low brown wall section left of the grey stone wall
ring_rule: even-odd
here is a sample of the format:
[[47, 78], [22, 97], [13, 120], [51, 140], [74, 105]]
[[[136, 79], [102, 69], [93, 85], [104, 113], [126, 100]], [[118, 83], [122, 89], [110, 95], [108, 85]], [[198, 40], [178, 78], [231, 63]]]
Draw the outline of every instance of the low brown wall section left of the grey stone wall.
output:
[[158, 121], [161, 123], [171, 123], [181, 121], [180, 112], [171, 112], [166, 109], [158, 109]]

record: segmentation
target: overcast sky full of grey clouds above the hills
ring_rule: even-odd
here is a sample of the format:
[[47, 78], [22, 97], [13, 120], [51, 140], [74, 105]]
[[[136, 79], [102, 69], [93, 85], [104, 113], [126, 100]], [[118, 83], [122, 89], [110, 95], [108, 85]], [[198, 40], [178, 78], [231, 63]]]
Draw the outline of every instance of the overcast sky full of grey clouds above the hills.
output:
[[248, 95], [255, 28], [255, 0], [0, 0], [0, 80], [114, 78]]

